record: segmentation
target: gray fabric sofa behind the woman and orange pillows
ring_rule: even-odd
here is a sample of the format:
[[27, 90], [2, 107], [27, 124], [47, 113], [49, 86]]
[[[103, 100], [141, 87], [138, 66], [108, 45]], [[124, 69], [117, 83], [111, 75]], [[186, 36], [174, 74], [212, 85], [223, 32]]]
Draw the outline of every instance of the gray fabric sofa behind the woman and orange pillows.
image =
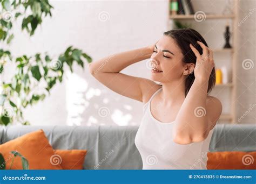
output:
[[[0, 144], [38, 129], [54, 149], [87, 150], [84, 169], [142, 169], [134, 144], [138, 126], [2, 126]], [[217, 124], [210, 151], [256, 151], [255, 125]]]

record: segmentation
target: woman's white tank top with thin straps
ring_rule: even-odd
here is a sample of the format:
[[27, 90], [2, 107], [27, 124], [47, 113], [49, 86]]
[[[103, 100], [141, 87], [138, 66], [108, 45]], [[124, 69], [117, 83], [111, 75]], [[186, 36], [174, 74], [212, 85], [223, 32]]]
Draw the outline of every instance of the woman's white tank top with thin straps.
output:
[[215, 126], [204, 141], [186, 145], [174, 143], [174, 122], [160, 122], [150, 110], [151, 100], [160, 89], [143, 106], [143, 118], [134, 140], [142, 157], [142, 169], [207, 169], [207, 153]]

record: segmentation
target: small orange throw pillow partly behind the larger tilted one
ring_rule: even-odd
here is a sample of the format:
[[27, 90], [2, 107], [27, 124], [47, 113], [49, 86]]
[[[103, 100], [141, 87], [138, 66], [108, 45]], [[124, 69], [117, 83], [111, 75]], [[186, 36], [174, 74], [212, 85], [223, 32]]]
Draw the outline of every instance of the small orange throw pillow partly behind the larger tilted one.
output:
[[83, 169], [87, 150], [55, 150], [63, 169]]

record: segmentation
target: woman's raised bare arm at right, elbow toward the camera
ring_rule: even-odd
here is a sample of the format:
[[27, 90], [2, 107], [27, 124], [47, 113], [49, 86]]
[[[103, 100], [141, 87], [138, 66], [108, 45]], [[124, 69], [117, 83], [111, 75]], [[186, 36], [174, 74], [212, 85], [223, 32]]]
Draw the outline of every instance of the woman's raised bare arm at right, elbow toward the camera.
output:
[[190, 45], [197, 56], [194, 67], [195, 80], [178, 112], [173, 125], [173, 141], [178, 144], [190, 144], [203, 141], [218, 121], [222, 105], [218, 98], [208, 97], [208, 80], [214, 67], [213, 52], [198, 41], [203, 54]]

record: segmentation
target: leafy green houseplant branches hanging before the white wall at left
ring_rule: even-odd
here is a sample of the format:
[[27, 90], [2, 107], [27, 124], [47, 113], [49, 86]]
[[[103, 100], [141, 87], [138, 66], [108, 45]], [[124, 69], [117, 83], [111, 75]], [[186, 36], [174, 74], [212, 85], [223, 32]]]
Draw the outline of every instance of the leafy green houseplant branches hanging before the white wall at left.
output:
[[[51, 16], [53, 6], [48, 0], [0, 0], [0, 42], [11, 44], [14, 39], [12, 23], [22, 19], [21, 30], [33, 36], [43, 17]], [[27, 11], [30, 10], [30, 11]], [[31, 13], [29, 13], [31, 12]], [[23, 110], [44, 100], [46, 95], [57, 82], [62, 82], [65, 73], [64, 66], [73, 72], [74, 62], [84, 68], [84, 61], [91, 62], [89, 55], [78, 48], [69, 46], [57, 58], [51, 58], [46, 53], [36, 53], [32, 56], [21, 55], [14, 58], [10, 51], [0, 48], [0, 75], [5, 72], [4, 66], [8, 62], [15, 63], [15, 75], [11, 82], [0, 81], [0, 124], [8, 125], [12, 122], [29, 124], [23, 117]], [[44, 83], [44, 90], [36, 92], [39, 84]]]

